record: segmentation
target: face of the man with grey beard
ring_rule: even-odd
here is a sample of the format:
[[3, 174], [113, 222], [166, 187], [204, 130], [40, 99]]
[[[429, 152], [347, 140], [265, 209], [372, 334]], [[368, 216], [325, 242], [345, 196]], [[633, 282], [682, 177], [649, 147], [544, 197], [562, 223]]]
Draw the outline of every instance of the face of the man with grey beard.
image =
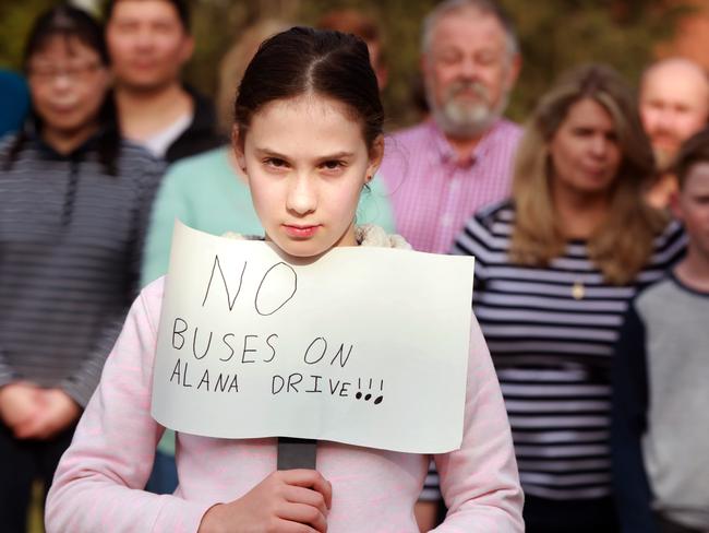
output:
[[493, 15], [465, 10], [441, 19], [423, 58], [426, 97], [438, 127], [476, 137], [502, 115], [519, 71]]

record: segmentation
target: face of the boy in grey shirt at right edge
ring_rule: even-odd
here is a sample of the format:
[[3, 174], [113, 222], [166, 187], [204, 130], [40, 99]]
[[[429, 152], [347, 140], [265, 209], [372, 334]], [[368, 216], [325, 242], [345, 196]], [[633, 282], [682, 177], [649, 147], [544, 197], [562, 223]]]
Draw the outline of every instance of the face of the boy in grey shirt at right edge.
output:
[[689, 235], [689, 247], [709, 262], [709, 163], [696, 163], [672, 203]]

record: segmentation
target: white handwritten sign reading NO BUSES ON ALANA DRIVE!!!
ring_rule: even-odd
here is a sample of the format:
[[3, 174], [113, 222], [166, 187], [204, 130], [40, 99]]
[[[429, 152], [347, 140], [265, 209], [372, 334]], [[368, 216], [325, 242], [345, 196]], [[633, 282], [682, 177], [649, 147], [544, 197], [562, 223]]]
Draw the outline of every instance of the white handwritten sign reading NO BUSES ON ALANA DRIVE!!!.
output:
[[299, 264], [178, 222], [153, 417], [209, 437], [457, 449], [472, 270], [471, 258], [374, 247]]

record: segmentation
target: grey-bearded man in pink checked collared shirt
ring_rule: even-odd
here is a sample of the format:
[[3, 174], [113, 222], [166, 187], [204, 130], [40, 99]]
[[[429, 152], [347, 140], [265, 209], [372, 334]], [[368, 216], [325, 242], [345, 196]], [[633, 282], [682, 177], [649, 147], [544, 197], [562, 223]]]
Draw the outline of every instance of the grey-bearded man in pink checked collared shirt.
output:
[[515, 31], [494, 0], [447, 0], [423, 26], [431, 118], [389, 139], [381, 176], [398, 232], [445, 253], [466, 221], [509, 196], [521, 134], [502, 118], [520, 67]]

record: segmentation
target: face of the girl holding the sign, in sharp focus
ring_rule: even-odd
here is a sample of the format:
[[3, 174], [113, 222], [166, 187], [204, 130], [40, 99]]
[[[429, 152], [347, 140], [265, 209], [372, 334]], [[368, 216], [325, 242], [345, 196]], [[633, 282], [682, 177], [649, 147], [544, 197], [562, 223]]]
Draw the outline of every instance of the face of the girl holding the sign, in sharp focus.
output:
[[274, 100], [235, 146], [267, 240], [301, 258], [357, 245], [357, 204], [383, 142], [368, 151], [341, 104], [317, 95]]

